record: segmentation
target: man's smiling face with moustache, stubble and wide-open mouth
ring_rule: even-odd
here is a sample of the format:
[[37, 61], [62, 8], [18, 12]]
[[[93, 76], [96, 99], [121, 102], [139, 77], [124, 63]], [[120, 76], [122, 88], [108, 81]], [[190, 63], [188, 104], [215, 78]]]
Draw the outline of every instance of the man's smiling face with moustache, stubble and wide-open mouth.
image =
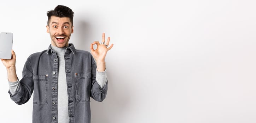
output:
[[63, 48], [69, 45], [73, 26], [68, 17], [52, 16], [49, 26], [46, 26], [47, 33], [50, 33], [51, 43], [53, 46]]

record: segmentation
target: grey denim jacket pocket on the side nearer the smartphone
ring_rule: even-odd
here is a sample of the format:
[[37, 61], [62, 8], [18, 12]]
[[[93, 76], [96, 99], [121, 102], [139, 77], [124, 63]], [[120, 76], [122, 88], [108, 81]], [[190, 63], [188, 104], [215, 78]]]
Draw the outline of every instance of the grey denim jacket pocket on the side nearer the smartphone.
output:
[[47, 104], [48, 75], [33, 75], [34, 80], [34, 104]]

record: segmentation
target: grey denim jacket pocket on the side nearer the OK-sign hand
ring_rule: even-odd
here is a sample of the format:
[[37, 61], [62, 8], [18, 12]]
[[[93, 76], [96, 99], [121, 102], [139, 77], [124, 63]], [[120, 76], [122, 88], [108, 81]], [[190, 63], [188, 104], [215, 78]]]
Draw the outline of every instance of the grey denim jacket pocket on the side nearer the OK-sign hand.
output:
[[90, 101], [91, 73], [76, 73], [76, 100], [77, 102]]

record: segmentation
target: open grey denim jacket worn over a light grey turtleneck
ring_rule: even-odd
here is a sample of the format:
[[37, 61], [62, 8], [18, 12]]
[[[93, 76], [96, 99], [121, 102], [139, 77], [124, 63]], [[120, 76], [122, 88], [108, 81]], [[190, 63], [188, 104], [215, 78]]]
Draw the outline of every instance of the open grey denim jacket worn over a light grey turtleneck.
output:
[[[90, 123], [90, 97], [103, 101], [103, 88], [96, 82], [96, 63], [91, 53], [76, 50], [73, 44], [65, 52], [68, 87], [69, 123]], [[28, 102], [34, 90], [33, 123], [58, 123], [58, 58], [51, 49], [31, 54], [23, 68], [20, 88], [11, 99], [21, 105]]]

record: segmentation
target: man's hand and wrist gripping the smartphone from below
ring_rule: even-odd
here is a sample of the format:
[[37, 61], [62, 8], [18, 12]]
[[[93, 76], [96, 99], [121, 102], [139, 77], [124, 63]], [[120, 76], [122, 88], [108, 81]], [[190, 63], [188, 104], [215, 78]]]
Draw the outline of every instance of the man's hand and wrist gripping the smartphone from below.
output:
[[15, 82], [18, 78], [16, 75], [16, 55], [12, 50], [12, 58], [11, 59], [1, 59], [2, 63], [5, 65], [7, 69], [8, 80], [10, 82]]

